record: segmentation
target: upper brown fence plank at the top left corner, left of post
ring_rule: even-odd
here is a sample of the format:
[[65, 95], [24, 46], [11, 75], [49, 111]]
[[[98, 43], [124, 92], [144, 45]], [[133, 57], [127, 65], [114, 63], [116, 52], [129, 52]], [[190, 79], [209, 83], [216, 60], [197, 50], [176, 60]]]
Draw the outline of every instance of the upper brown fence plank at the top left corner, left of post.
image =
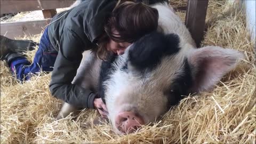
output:
[[41, 6], [38, 1], [27, 0], [27, 1], [3, 1], [1, 0], [1, 14], [4, 13], [15, 13], [25, 11], [41, 10]]

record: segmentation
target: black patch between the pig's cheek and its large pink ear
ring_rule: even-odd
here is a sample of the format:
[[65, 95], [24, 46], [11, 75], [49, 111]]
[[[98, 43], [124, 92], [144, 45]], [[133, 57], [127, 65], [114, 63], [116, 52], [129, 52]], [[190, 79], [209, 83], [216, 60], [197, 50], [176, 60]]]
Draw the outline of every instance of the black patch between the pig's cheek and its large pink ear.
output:
[[190, 87], [193, 85], [191, 69], [187, 59], [184, 61], [183, 68], [183, 73], [174, 79], [174, 82], [170, 85], [170, 89], [164, 92], [168, 99], [168, 109], [171, 106], [177, 105], [181, 99], [185, 98], [189, 94]]

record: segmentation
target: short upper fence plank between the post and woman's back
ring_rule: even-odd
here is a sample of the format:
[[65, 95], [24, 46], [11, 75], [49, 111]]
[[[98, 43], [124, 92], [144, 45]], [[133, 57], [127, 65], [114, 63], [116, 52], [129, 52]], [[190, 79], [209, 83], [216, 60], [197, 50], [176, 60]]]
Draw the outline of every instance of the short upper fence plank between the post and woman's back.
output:
[[75, 2], [75, 0], [51, 0], [51, 1], [41, 0], [40, 2], [43, 10], [49, 10], [49, 9], [69, 7], [71, 4]]

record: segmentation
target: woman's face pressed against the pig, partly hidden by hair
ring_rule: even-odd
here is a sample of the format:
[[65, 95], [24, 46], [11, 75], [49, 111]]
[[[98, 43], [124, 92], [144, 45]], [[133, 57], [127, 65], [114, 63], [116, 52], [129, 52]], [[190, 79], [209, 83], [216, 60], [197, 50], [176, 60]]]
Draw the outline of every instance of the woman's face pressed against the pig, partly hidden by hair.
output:
[[[114, 30], [113, 33], [118, 36], [119, 33], [118, 31]], [[109, 43], [107, 44], [107, 50], [108, 51], [112, 51], [118, 55], [122, 55], [124, 54], [125, 49], [131, 45], [131, 43], [128, 42], [122, 42], [122, 43], [118, 43], [113, 41], [112, 39], [110, 39]]]

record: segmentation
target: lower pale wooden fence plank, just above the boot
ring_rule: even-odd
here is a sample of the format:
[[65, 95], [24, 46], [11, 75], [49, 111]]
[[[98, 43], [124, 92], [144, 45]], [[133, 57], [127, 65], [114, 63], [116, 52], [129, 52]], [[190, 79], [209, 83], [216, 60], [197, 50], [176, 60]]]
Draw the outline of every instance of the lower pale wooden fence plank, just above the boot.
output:
[[51, 19], [1, 23], [1, 35], [9, 38], [41, 34]]

